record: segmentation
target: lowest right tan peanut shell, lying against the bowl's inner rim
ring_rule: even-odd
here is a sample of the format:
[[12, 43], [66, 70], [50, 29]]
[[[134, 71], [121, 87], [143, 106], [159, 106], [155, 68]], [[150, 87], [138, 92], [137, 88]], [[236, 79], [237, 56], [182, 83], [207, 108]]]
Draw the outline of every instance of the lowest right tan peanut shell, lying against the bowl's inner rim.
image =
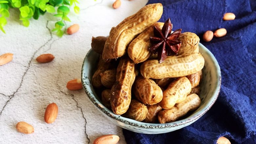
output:
[[201, 100], [197, 94], [189, 94], [183, 102], [176, 104], [171, 109], [160, 111], [158, 113], [158, 121], [160, 123], [174, 122], [188, 111], [197, 109], [200, 103]]

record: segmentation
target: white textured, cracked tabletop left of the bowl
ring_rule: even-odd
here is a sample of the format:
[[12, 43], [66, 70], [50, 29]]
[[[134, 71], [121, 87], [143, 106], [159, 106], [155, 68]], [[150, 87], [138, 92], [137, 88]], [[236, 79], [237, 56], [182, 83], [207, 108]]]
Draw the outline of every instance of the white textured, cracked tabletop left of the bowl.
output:
[[[51, 14], [31, 19], [28, 28], [21, 25], [17, 10], [11, 10], [7, 34], [0, 33], [0, 55], [13, 53], [13, 60], [0, 66], [0, 143], [93, 143], [104, 134], [117, 134], [125, 143], [122, 129], [109, 122], [91, 103], [83, 90], [69, 91], [69, 80], [80, 78], [82, 62], [91, 48], [92, 36], [107, 36], [110, 29], [143, 7], [147, 0], [122, 0], [113, 9], [114, 0], [80, 1], [80, 13], [69, 14], [80, 29], [73, 35], [58, 38], [50, 30], [56, 18]], [[36, 57], [51, 53], [55, 59], [46, 64]], [[44, 122], [49, 103], [56, 103], [58, 117]], [[16, 131], [16, 124], [26, 121], [33, 134]]]

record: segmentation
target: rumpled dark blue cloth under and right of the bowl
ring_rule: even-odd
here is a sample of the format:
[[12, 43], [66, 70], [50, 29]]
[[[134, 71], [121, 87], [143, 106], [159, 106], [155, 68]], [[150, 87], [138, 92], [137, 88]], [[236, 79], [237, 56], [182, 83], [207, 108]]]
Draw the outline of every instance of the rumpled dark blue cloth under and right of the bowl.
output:
[[[231, 143], [256, 143], [256, 1], [255, 0], [149, 0], [162, 3], [160, 22], [171, 18], [173, 30], [190, 31], [201, 38], [219, 62], [222, 85], [213, 107], [199, 120], [166, 134], [139, 134], [123, 130], [127, 143], [216, 143], [225, 136]], [[232, 12], [236, 19], [223, 21]], [[227, 34], [203, 42], [203, 33], [225, 28]]]

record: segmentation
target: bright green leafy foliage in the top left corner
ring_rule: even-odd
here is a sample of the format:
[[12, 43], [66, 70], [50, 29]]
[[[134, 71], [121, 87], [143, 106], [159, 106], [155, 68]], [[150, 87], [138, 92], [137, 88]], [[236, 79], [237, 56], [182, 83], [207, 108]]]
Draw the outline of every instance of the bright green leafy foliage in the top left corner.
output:
[[[29, 20], [33, 17], [38, 19], [40, 15], [55, 13], [53, 16], [61, 18], [55, 23], [55, 28], [59, 37], [64, 34], [64, 21], [71, 21], [68, 17], [70, 7], [74, 5], [74, 12], [79, 13], [80, 8], [77, 6], [77, 0], [0, 0], [0, 30], [5, 33], [3, 27], [7, 24], [7, 17], [10, 17], [9, 8], [18, 8], [20, 10], [20, 19], [25, 27], [28, 27]], [[57, 11], [56, 11], [57, 8]]]

